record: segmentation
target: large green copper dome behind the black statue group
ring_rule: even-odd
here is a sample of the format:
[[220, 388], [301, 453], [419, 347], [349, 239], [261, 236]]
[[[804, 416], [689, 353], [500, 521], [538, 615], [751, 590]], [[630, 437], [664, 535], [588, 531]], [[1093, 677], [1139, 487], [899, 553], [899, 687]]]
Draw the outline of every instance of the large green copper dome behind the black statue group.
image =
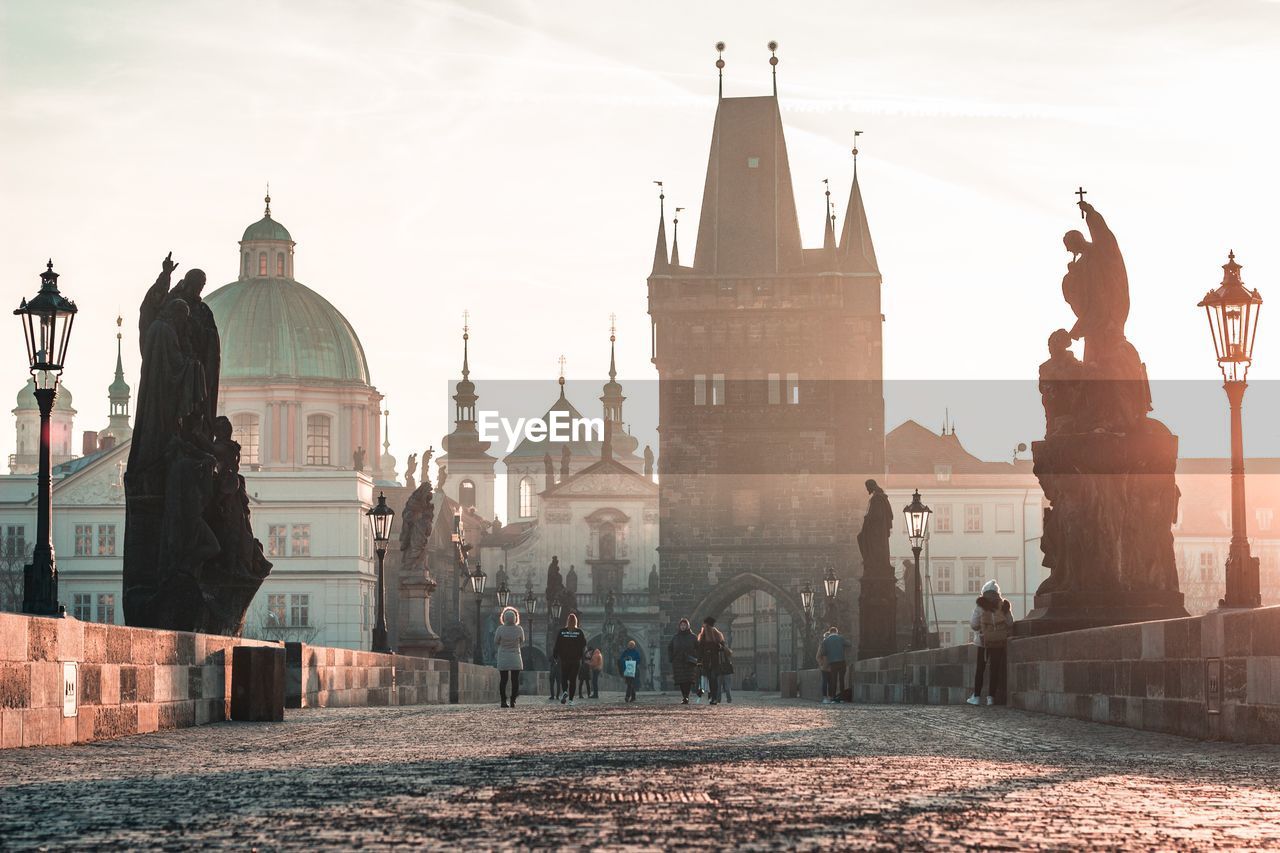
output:
[[[261, 224], [250, 225], [250, 231]], [[247, 240], [250, 232], [244, 233]], [[218, 288], [205, 304], [221, 336], [221, 382], [370, 384], [356, 330], [310, 287], [288, 278], [247, 278]]]

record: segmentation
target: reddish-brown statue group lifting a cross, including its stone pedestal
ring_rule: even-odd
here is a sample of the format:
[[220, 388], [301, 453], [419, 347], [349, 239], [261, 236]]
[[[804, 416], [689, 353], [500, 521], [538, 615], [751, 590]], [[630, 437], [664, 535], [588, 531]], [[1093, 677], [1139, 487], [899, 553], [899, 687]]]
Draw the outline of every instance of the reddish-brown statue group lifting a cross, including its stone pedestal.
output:
[[[1184, 616], [1171, 523], [1178, 512], [1178, 437], [1148, 416], [1147, 368], [1125, 338], [1129, 278], [1114, 233], [1079, 202], [1062, 296], [1076, 316], [1050, 336], [1039, 369], [1044, 441], [1033, 442], [1048, 507], [1041, 549], [1050, 576], [1020, 631]], [[1083, 361], [1068, 338], [1084, 339]]]

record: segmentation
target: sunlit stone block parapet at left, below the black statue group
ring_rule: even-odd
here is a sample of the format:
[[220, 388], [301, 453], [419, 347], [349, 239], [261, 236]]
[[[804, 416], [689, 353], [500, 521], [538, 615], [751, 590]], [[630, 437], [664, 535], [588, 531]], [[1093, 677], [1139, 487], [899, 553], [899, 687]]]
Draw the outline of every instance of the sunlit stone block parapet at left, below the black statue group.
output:
[[[229, 717], [230, 637], [0, 613], [0, 748], [180, 729]], [[64, 665], [76, 667], [74, 716]]]

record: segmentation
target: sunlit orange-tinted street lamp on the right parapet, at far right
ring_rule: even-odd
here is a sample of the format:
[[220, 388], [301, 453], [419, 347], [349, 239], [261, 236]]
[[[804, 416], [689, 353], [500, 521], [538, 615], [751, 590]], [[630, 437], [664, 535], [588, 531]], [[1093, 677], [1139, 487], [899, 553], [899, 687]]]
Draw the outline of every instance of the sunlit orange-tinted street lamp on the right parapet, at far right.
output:
[[1221, 607], [1258, 607], [1258, 560], [1249, 553], [1244, 516], [1244, 429], [1240, 406], [1244, 402], [1245, 377], [1253, 361], [1253, 342], [1258, 333], [1258, 311], [1262, 296], [1240, 280], [1235, 252], [1222, 264], [1222, 284], [1199, 301], [1208, 316], [1210, 334], [1222, 370], [1222, 388], [1231, 407], [1231, 549], [1226, 558], [1226, 597]]

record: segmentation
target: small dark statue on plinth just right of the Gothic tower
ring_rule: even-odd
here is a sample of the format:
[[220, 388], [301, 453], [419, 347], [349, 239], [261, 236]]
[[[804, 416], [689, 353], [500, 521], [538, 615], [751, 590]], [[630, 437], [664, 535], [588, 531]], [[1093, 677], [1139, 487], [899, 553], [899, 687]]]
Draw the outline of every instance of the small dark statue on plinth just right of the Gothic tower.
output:
[[861, 589], [858, 597], [858, 657], [883, 657], [897, 648], [897, 593], [888, 538], [893, 532], [893, 510], [888, 496], [876, 480], [867, 480], [867, 515], [858, 532], [858, 552], [863, 557]]

